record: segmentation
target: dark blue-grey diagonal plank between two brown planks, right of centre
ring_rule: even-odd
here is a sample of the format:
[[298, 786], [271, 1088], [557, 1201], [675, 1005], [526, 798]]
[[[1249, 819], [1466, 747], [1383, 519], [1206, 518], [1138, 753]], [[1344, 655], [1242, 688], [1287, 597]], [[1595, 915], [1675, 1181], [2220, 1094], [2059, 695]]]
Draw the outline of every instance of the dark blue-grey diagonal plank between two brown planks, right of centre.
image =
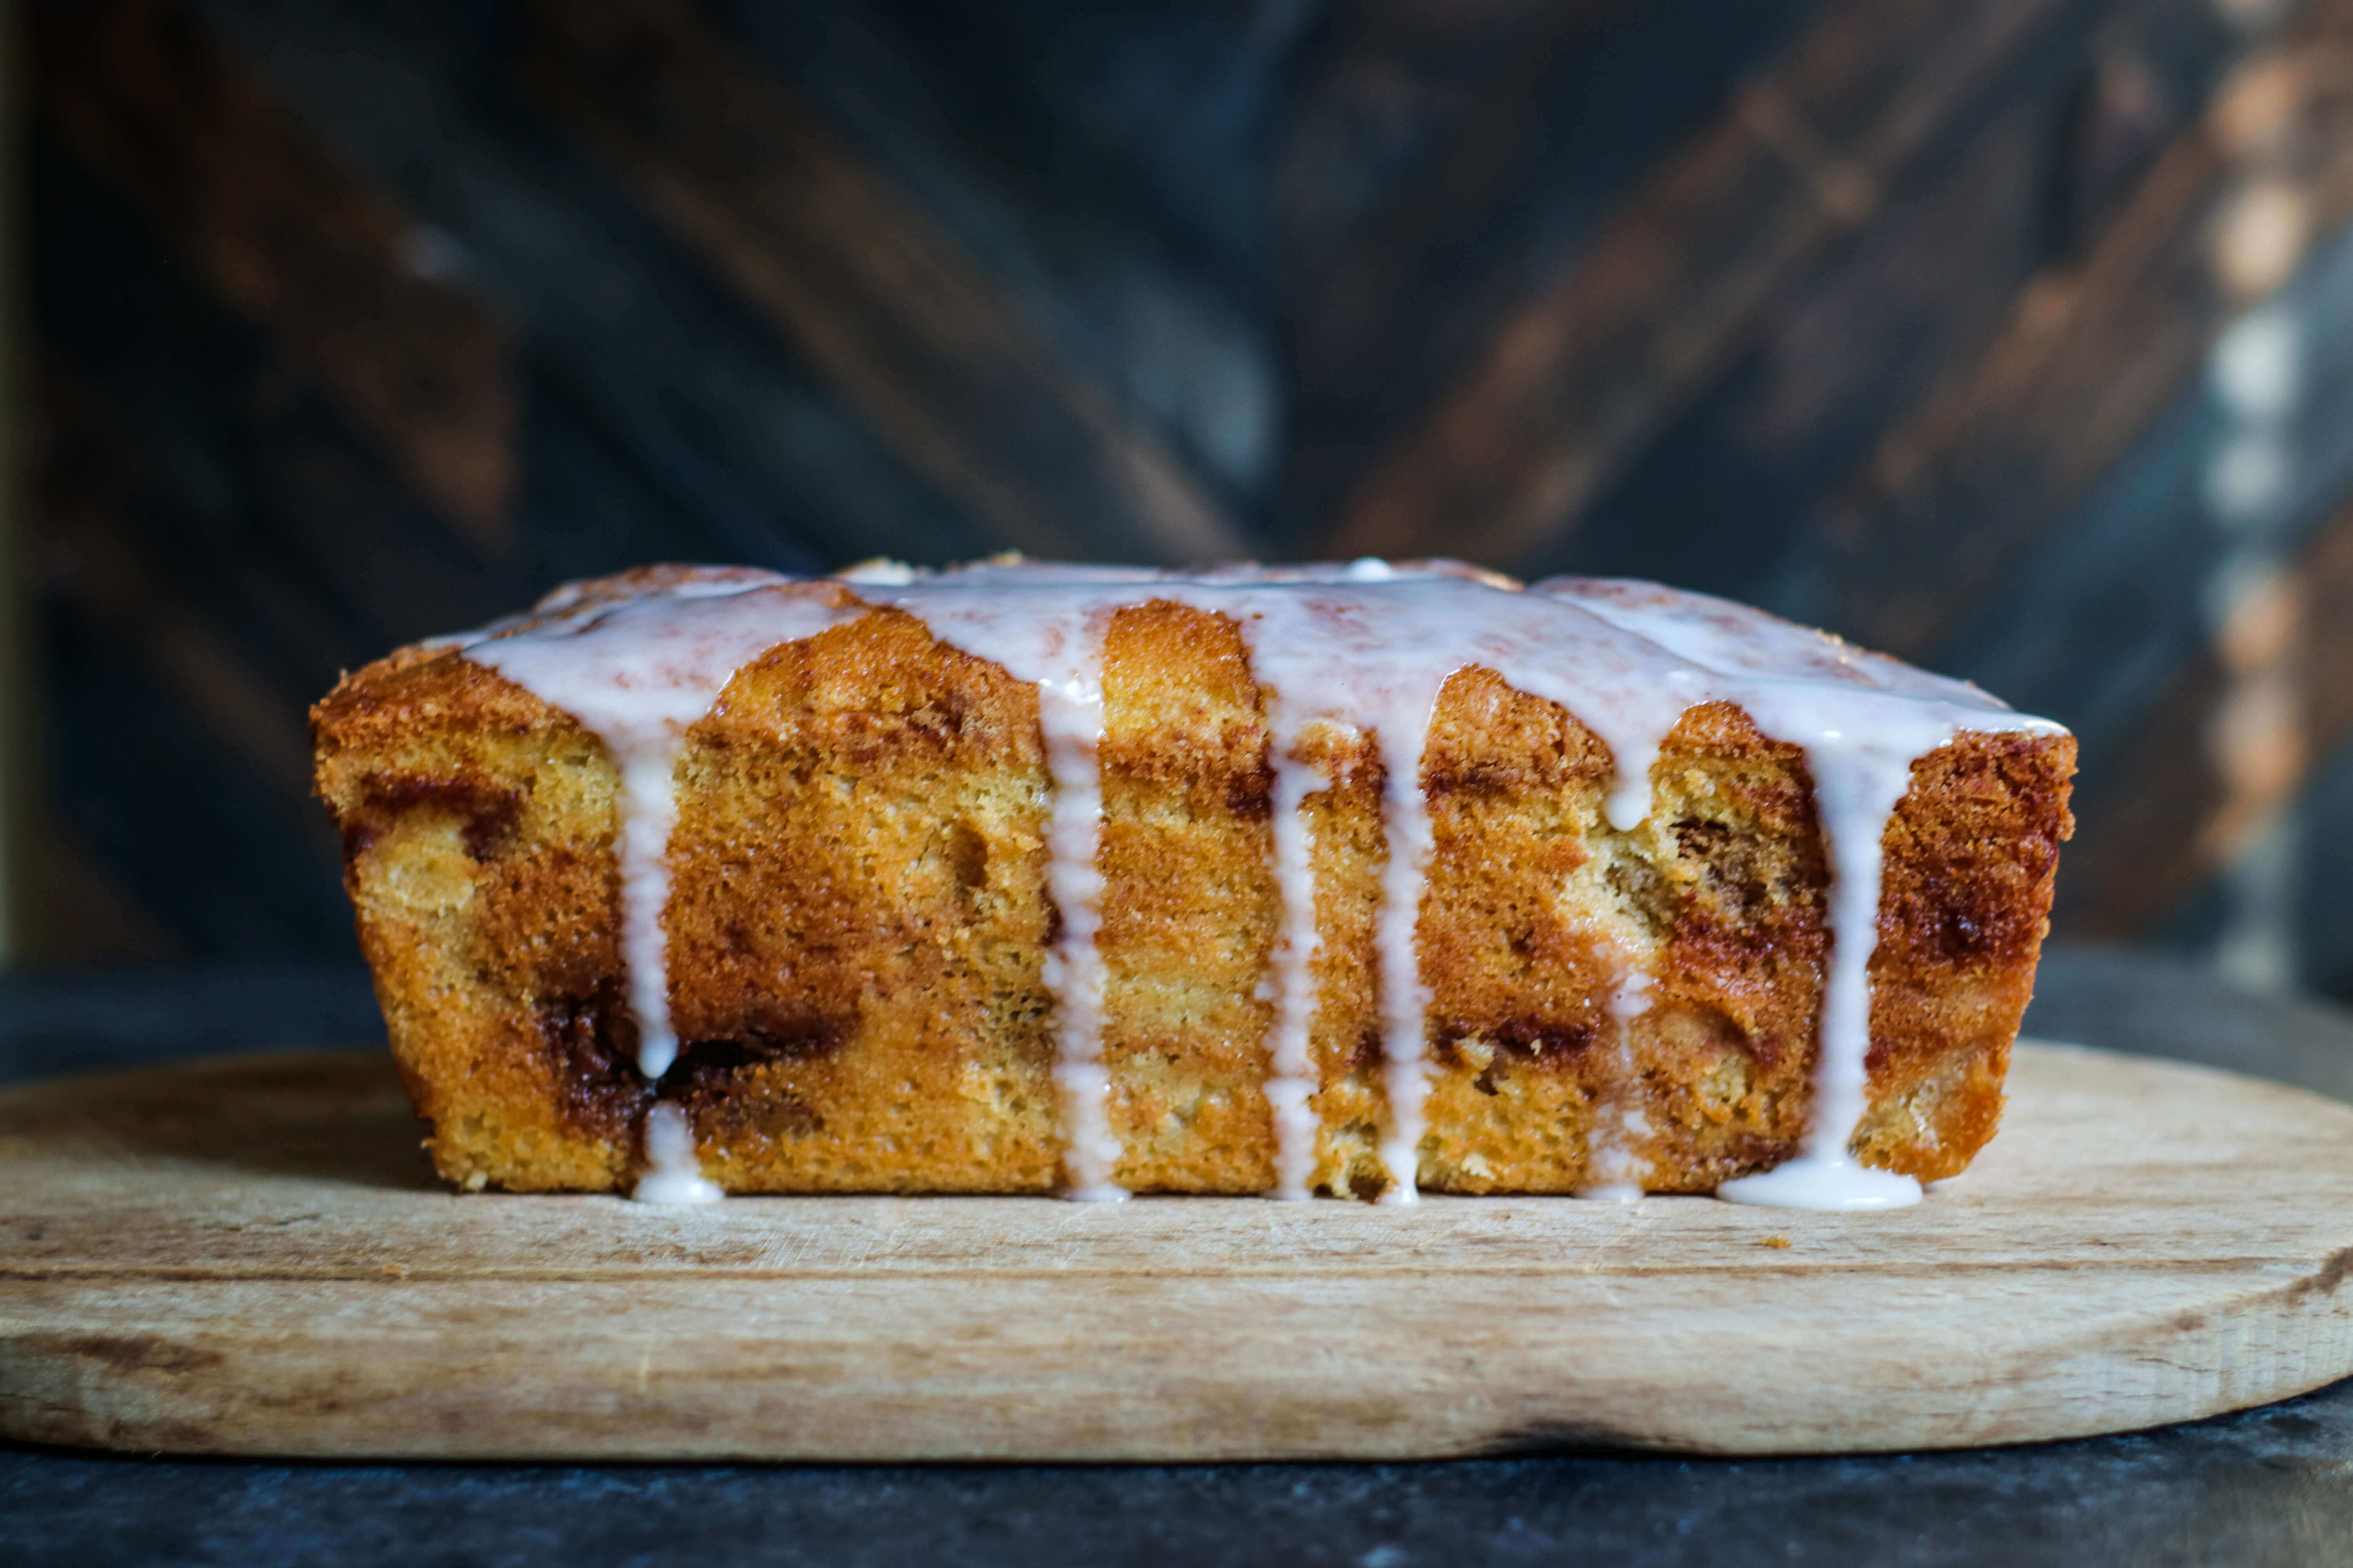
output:
[[2085, 52], [2038, 63], [1793, 280], [1755, 343], [1525, 571], [1732, 597], [1777, 583], [1781, 609], [1812, 614], [1791, 567], [1812, 564], [1821, 501], [2007, 322], [2019, 287], [2106, 228], [2238, 42], [2209, 0], [2122, 0]]

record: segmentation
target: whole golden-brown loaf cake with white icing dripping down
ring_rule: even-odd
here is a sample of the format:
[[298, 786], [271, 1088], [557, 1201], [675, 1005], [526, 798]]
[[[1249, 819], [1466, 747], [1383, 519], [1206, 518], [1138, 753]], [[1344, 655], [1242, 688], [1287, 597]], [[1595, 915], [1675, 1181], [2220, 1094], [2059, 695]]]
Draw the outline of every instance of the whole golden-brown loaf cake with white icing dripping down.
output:
[[440, 1173], [671, 1199], [1908, 1201], [1995, 1131], [2073, 773], [1447, 562], [645, 569], [313, 729]]

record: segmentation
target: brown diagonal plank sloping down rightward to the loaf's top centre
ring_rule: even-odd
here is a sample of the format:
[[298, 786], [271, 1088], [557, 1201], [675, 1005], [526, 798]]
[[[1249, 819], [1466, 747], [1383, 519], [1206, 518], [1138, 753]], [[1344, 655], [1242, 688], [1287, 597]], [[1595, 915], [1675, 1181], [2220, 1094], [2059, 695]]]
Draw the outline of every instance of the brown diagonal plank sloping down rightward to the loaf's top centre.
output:
[[532, 85], [901, 454], [1040, 555], [1245, 552], [1195, 480], [1061, 362], [840, 141], [689, 5], [532, 9]]

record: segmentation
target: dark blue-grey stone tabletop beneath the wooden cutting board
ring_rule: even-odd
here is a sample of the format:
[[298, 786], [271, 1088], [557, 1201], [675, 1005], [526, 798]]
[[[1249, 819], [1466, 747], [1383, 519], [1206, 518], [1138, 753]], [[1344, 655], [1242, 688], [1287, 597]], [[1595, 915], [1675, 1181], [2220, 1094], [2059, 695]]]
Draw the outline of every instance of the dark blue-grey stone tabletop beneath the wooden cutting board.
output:
[[[12, 978], [0, 1077], [306, 1030], [355, 1039], [367, 1023], [353, 976]], [[2353, 1093], [2341, 1013], [2231, 992], [2177, 959], [2054, 952], [2028, 1027]], [[2353, 1561], [2353, 1382], [2078, 1443], [1748, 1462], [459, 1467], [0, 1446], [0, 1561], [2337, 1566]]]

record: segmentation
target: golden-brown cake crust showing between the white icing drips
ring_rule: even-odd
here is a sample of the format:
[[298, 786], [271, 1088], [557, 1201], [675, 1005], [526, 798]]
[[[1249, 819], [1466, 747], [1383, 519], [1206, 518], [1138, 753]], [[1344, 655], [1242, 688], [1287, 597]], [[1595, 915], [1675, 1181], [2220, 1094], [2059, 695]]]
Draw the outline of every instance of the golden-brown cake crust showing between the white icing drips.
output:
[[[1104, 1056], [1122, 1185], [1261, 1192], [1261, 997], [1280, 907], [1264, 693], [1238, 628], [1120, 611], [1106, 661]], [[442, 1175], [616, 1190], [654, 1098], [621, 1001], [616, 773], [560, 710], [461, 654], [405, 649], [315, 710], [360, 940]], [[1320, 952], [1315, 1180], [1374, 1194], [1381, 764], [1311, 729]], [[1805, 1133], [1828, 938], [1798, 748], [1697, 708], [1657, 809], [1602, 816], [1607, 748], [1489, 670], [1447, 682], [1424, 788], [1431, 1009], [1421, 1180], [1586, 1182], [1612, 1086], [1617, 954], [1657, 976], [1633, 1023], [1652, 1185], [1706, 1192]], [[1991, 1138], [2049, 914], [2073, 741], [1962, 736], [1887, 830], [1873, 957], [1873, 1164], [1951, 1175]], [[678, 1100], [736, 1192], [1045, 1192], [1059, 1182], [1042, 959], [1049, 783], [1038, 698], [875, 611], [741, 670], [678, 766]]]

